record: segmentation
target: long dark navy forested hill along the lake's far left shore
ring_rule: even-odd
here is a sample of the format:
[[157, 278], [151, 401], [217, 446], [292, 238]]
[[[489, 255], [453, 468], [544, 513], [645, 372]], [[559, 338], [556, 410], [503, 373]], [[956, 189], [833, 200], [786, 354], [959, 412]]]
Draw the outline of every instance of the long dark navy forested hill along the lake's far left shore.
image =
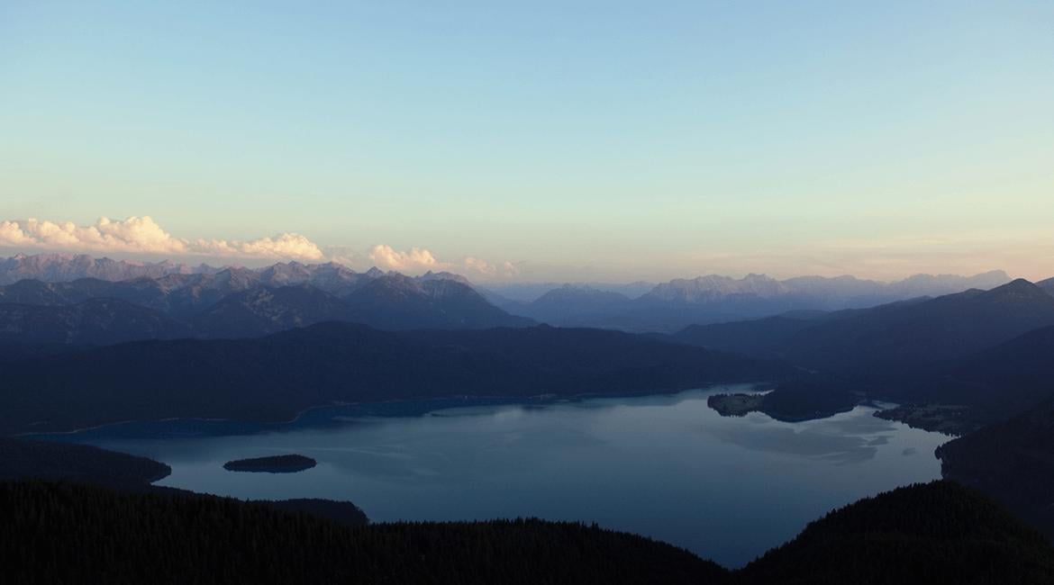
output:
[[323, 323], [260, 339], [135, 342], [0, 363], [0, 432], [173, 417], [286, 421], [333, 402], [681, 390], [789, 370], [600, 329]]

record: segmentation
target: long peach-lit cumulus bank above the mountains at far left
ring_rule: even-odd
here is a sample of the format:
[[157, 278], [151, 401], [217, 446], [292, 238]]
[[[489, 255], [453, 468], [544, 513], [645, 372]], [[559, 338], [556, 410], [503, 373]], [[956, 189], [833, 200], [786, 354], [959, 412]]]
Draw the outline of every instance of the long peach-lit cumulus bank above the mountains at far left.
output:
[[149, 216], [101, 218], [93, 225], [46, 220], [0, 222], [0, 246], [171, 256], [213, 256], [321, 260], [321, 249], [298, 234], [256, 240], [186, 240], [161, 228]]

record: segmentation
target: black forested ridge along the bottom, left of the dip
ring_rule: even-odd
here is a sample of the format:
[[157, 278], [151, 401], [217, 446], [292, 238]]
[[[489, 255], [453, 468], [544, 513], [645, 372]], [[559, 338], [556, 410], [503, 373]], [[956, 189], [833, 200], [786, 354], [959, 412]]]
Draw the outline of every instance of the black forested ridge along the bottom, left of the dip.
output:
[[348, 528], [221, 498], [0, 483], [6, 583], [707, 585], [667, 544], [536, 520]]

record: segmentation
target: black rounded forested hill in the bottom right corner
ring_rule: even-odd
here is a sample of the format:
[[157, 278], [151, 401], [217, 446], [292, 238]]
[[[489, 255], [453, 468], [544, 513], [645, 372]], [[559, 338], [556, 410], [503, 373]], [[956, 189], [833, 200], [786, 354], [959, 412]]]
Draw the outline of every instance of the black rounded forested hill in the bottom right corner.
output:
[[933, 482], [835, 510], [739, 577], [768, 585], [1054, 583], [1054, 549], [979, 493]]

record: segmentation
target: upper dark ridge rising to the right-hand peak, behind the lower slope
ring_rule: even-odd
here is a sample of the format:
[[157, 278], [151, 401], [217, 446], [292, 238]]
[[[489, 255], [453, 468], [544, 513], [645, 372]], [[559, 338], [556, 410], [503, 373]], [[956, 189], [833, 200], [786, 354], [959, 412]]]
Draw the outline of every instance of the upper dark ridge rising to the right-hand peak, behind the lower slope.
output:
[[674, 337], [827, 374], [866, 372], [885, 380], [917, 375], [1048, 325], [1054, 325], [1054, 296], [1018, 279], [991, 290], [868, 309], [695, 325]]

